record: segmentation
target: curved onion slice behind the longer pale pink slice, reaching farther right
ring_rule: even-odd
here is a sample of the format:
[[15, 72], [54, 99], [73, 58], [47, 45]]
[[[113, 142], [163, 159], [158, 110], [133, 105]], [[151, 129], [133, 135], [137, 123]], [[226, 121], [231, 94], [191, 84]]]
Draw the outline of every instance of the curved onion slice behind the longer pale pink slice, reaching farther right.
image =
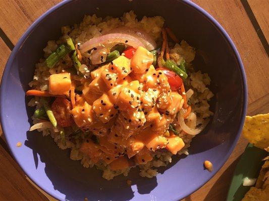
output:
[[129, 28], [129, 27], [123, 26], [123, 27], [119, 27], [119, 28], [111, 30], [110, 33], [131, 35], [137, 38], [138, 40], [140, 40], [148, 51], [151, 51], [157, 48], [157, 44], [155, 40], [144, 30], [139, 29], [139, 28]]

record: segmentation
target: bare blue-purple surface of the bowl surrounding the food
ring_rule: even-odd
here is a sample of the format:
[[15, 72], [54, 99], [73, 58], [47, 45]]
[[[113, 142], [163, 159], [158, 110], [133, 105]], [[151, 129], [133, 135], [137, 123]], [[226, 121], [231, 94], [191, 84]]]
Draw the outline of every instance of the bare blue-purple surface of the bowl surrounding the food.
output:
[[[118, 6], [117, 6], [118, 5]], [[99, 8], [97, 10], [96, 8]], [[134, 10], [142, 16], [163, 16], [178, 38], [196, 48], [194, 65], [207, 72], [214, 92], [214, 116], [194, 138], [190, 155], [159, 168], [151, 179], [132, 169], [126, 177], [107, 181], [95, 168], [87, 169], [69, 159], [50, 137], [28, 132], [33, 111], [27, 107], [25, 91], [33, 78], [35, 63], [42, 57], [46, 41], [61, 35], [61, 26], [82, 20], [84, 14], [120, 17]], [[169, 11], [169, 12], [168, 12]], [[231, 38], [208, 13], [189, 1], [64, 1], [42, 15], [25, 32], [6, 65], [1, 84], [1, 122], [16, 161], [40, 188], [60, 200], [179, 200], [207, 182], [225, 163], [241, 133], [247, 107], [247, 85], [242, 61]], [[17, 148], [16, 143], [22, 142]], [[214, 166], [204, 170], [204, 160]], [[14, 181], [15, 182], [15, 181]]]

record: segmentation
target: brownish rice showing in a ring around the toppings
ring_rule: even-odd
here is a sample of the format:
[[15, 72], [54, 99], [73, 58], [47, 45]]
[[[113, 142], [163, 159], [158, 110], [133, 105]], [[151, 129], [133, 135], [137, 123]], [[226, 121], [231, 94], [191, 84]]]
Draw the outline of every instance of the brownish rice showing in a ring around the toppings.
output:
[[[162, 32], [162, 27], [164, 26], [164, 19], [160, 16], [156, 17], [143, 17], [141, 21], [136, 19], [136, 15], [133, 11], [129, 13], [124, 13], [121, 18], [105, 17], [99, 18], [96, 15], [87, 16], [85, 15], [83, 21], [80, 24], [75, 24], [73, 26], [62, 27], [62, 36], [57, 41], [48, 41], [46, 47], [43, 49], [44, 58], [48, 57], [52, 52], [54, 52], [58, 45], [64, 43], [67, 38], [72, 37], [76, 43], [84, 43], [93, 37], [102, 35], [102, 33], [107, 33], [112, 29], [120, 26], [127, 26], [130, 28], [142, 28], [150, 36], [152, 36], [158, 43], [160, 41], [160, 36]], [[210, 84], [210, 78], [207, 73], [202, 73], [201, 71], [195, 72], [192, 68], [191, 62], [195, 57], [195, 50], [186, 41], [181, 41], [180, 44], [176, 44], [174, 48], [170, 50], [171, 58], [174, 59], [177, 64], [184, 59], [186, 60], [187, 67], [190, 70], [190, 76], [186, 80], [186, 90], [192, 88], [194, 94], [190, 98], [192, 104], [192, 111], [197, 114], [196, 125], [202, 124], [206, 118], [210, 117], [213, 113], [209, 111], [209, 100], [213, 96], [213, 93], [208, 88]], [[51, 74], [64, 72], [66, 68], [72, 65], [72, 59], [69, 55], [65, 56], [64, 62], [60, 63], [58, 66], [48, 69], [44, 63], [44, 59], [40, 59], [35, 65], [35, 72], [33, 80], [29, 83], [29, 86], [38, 90], [47, 90], [48, 88], [48, 78]], [[28, 103], [30, 107], [40, 108], [39, 98], [33, 97]], [[33, 123], [38, 123], [38, 119], [32, 117]], [[178, 128], [180, 131], [181, 129]], [[66, 145], [63, 145], [59, 132], [55, 132], [53, 129], [38, 129], [38, 131], [43, 133], [43, 136], [50, 135], [53, 140], [57, 143], [61, 149], [71, 149], [70, 158], [72, 160], [81, 160], [81, 164], [85, 168], [93, 167], [94, 163], [90, 158], [82, 154], [79, 150], [82, 140], [85, 138], [84, 134], [79, 137], [72, 136], [72, 133], [66, 134]], [[86, 134], [85, 134], [86, 135]], [[181, 132], [179, 136], [183, 139], [185, 147], [178, 152], [178, 155], [185, 154], [188, 155], [188, 147], [190, 147], [191, 140], [194, 136], [184, 134]], [[143, 177], [153, 177], [157, 175], [157, 167], [167, 166], [172, 162], [172, 153], [170, 152], [158, 152], [154, 153], [153, 160], [147, 162], [146, 164], [139, 165], [140, 175]], [[115, 176], [123, 174], [127, 176], [131, 168], [124, 170], [114, 171], [109, 169], [107, 165], [96, 164], [96, 167], [103, 171], [103, 178], [110, 180]]]

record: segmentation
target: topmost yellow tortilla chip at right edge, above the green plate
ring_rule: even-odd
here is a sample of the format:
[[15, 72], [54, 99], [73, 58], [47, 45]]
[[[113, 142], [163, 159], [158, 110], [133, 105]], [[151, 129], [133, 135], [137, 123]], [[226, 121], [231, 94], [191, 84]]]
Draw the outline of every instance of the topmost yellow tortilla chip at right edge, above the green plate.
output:
[[254, 146], [261, 149], [269, 147], [269, 113], [246, 116], [242, 133]]

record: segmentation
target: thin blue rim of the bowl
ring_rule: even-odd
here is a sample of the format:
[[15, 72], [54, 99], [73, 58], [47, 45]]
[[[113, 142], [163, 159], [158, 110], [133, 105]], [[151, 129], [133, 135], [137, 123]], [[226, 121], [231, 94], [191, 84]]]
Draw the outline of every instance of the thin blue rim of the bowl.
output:
[[[35, 27], [38, 26], [39, 23], [42, 22], [43, 19], [45, 19], [48, 15], [50, 15], [51, 13], [57, 11], [58, 9], [60, 9], [61, 7], [68, 5], [69, 3], [73, 2], [74, 0], [63, 0], [63, 2], [60, 2], [59, 4], [53, 6], [52, 8], [50, 8], [49, 10], [47, 10], [44, 14], [42, 14], [38, 19], [36, 19], [33, 24], [24, 32], [24, 34], [21, 36], [21, 38], [19, 39], [19, 41], [17, 42], [17, 44], [15, 45], [15, 47], [13, 48], [10, 57], [7, 61], [7, 64], [5, 66], [4, 72], [3, 72], [3, 77], [2, 77], [2, 81], [1, 81], [1, 86], [0, 86], [0, 111], [3, 111], [3, 103], [4, 103], [4, 96], [5, 94], [3, 93], [3, 89], [5, 88], [5, 85], [7, 83], [7, 79], [8, 79], [8, 72], [10, 71], [10, 68], [12, 66], [13, 60], [16, 57], [16, 54], [18, 52], [18, 50], [21, 48], [21, 46], [23, 45], [24, 41], [27, 39], [28, 35], [35, 29]], [[184, 197], [192, 194], [193, 192], [195, 192], [196, 190], [198, 190], [201, 186], [203, 186], [205, 183], [207, 183], [219, 170], [220, 168], [224, 165], [224, 163], [227, 161], [227, 159], [229, 158], [229, 156], [231, 155], [232, 151], [235, 148], [235, 145], [240, 137], [240, 134], [242, 132], [242, 128], [243, 128], [243, 124], [244, 124], [244, 120], [245, 120], [245, 116], [246, 116], [246, 111], [247, 111], [247, 80], [246, 80], [246, 75], [245, 75], [245, 70], [244, 70], [244, 66], [241, 60], [241, 57], [239, 55], [239, 52], [235, 46], [235, 44], [233, 43], [232, 39], [230, 38], [230, 36], [228, 35], [228, 33], [225, 31], [225, 29], [221, 26], [221, 24], [214, 19], [209, 13], [207, 13], [204, 9], [202, 9], [201, 7], [199, 7], [198, 5], [196, 5], [195, 3], [191, 2], [190, 0], [176, 0], [177, 2], [181, 1], [183, 3], [185, 3], [186, 5], [192, 7], [194, 10], [196, 10], [197, 12], [201, 13], [204, 17], [206, 17], [209, 22], [211, 22], [219, 31], [220, 33], [224, 36], [224, 39], [228, 42], [228, 44], [230, 45], [230, 47], [233, 50], [233, 53], [236, 57], [236, 61], [239, 65], [239, 71], [241, 72], [242, 75], [242, 86], [243, 86], [243, 107], [242, 107], [242, 112], [241, 112], [241, 120], [240, 120], [240, 124], [239, 124], [239, 129], [236, 133], [236, 138], [234, 140], [234, 142], [232, 143], [232, 146], [229, 150], [229, 152], [227, 152], [227, 154], [223, 157], [223, 162], [221, 163], [221, 166], [216, 169], [217, 171], [214, 174], [211, 174], [203, 183], [201, 183], [200, 185], [198, 185], [194, 190], [192, 190], [191, 192], [186, 192], [185, 194], [183, 193]], [[13, 152], [13, 148], [11, 146], [10, 143], [10, 139], [9, 139], [9, 135], [7, 135], [7, 127], [5, 124], [5, 117], [4, 114], [2, 112], [0, 112], [0, 122], [2, 124], [2, 130], [3, 130], [3, 134], [5, 136], [5, 139], [7, 141], [9, 150], [12, 154], [12, 157], [15, 159], [15, 161], [19, 164], [20, 168], [22, 168], [22, 170], [24, 171], [24, 173], [26, 174], [27, 177], [29, 177], [40, 189], [44, 190], [46, 193], [48, 193], [49, 195], [51, 195], [52, 197], [55, 197], [59, 200], [65, 200], [62, 199], [63, 197], [59, 196], [59, 194], [56, 194], [55, 192], [51, 191], [50, 189], [46, 188], [46, 187], [42, 187], [42, 182], [39, 181], [38, 179], [34, 178], [33, 176], [31, 176], [31, 172], [28, 172], [27, 169], [24, 168], [23, 164], [21, 164], [20, 162], [18, 162], [18, 158], [15, 156], [15, 153]], [[177, 197], [177, 200], [180, 197]]]

